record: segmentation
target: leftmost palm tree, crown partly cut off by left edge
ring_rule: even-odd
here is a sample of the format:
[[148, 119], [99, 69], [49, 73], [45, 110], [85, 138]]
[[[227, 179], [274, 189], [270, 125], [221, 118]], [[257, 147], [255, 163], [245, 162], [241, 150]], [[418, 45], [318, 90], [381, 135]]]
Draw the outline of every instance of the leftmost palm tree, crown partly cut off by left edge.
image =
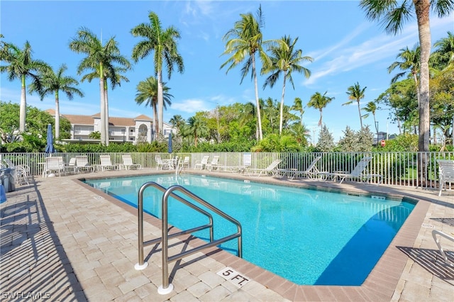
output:
[[21, 133], [26, 130], [26, 79], [31, 77], [36, 89], [40, 91], [42, 86], [38, 72], [44, 72], [50, 68], [41, 60], [33, 60], [31, 54], [31, 45], [28, 41], [23, 45], [23, 49], [11, 43], [2, 42], [0, 59], [9, 65], [0, 66], [0, 72], [6, 72], [10, 82], [13, 82], [14, 79], [21, 79], [21, 106], [19, 109], [19, 130]]

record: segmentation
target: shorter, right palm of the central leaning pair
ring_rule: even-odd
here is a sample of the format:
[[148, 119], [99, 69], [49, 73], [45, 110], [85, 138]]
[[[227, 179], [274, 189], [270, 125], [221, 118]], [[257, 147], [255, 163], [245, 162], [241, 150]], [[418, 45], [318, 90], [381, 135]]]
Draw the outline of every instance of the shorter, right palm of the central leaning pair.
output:
[[284, 96], [285, 96], [285, 84], [287, 79], [292, 84], [293, 89], [295, 89], [293, 83], [292, 72], [299, 72], [304, 74], [304, 77], [309, 78], [311, 76], [311, 71], [306, 67], [301, 66], [304, 61], [312, 62], [314, 59], [309, 56], [303, 56], [303, 51], [300, 49], [295, 49], [295, 44], [297, 43], [298, 38], [295, 38], [292, 41], [290, 36], [284, 35], [281, 38], [279, 43], [270, 45], [269, 51], [270, 55], [270, 65], [264, 65], [262, 73], [266, 74], [271, 72], [272, 74], [267, 77], [263, 88], [267, 85], [275, 86], [279, 75], [283, 74], [284, 82], [282, 84], [282, 96], [281, 96], [281, 105], [280, 105], [280, 114], [279, 114], [279, 135], [282, 135], [282, 115], [284, 112]]

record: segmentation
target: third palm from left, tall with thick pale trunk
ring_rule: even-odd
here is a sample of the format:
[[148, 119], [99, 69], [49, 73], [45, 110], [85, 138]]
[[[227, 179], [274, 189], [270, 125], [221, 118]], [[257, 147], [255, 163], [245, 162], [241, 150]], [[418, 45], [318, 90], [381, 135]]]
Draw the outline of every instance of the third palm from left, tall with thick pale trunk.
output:
[[[118, 43], [110, 38], [103, 45], [94, 33], [88, 28], [80, 28], [77, 35], [70, 42], [70, 50], [87, 55], [79, 63], [77, 74], [82, 74], [87, 69], [99, 74], [99, 95], [101, 105], [101, 143], [109, 145], [109, 112], [106, 99], [106, 74], [116, 74], [114, 63], [129, 68], [131, 65], [121, 55]], [[115, 77], [113, 77], [115, 79]]]

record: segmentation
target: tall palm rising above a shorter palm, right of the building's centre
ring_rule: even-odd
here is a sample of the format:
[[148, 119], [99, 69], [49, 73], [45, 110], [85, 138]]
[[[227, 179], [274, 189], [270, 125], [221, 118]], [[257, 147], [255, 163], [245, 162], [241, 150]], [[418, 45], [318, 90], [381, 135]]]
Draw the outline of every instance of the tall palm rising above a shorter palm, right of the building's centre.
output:
[[147, 57], [154, 50], [153, 62], [155, 64], [155, 74], [157, 75], [157, 121], [158, 133], [162, 133], [164, 127], [164, 99], [162, 83], [162, 64], [167, 66], [167, 77], [170, 79], [176, 65], [178, 72], [184, 72], [183, 58], [177, 50], [177, 39], [180, 38], [179, 31], [170, 26], [166, 29], [161, 27], [161, 23], [156, 13], [148, 14], [150, 23], [141, 23], [131, 29], [134, 37], [143, 37], [133, 48], [133, 60], [138, 62], [139, 59]]

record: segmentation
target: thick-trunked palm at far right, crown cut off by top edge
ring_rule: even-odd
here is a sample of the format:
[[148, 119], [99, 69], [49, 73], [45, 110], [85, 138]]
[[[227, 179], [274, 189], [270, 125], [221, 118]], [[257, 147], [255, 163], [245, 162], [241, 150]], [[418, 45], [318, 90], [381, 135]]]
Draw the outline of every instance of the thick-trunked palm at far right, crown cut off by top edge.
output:
[[438, 17], [448, 16], [454, 11], [453, 0], [361, 0], [360, 7], [366, 17], [372, 21], [380, 21], [387, 33], [396, 35], [404, 25], [416, 14], [418, 22], [419, 45], [421, 57], [419, 61], [419, 151], [427, 152], [430, 131], [429, 106], [429, 71], [428, 59], [431, 55], [430, 11]]

